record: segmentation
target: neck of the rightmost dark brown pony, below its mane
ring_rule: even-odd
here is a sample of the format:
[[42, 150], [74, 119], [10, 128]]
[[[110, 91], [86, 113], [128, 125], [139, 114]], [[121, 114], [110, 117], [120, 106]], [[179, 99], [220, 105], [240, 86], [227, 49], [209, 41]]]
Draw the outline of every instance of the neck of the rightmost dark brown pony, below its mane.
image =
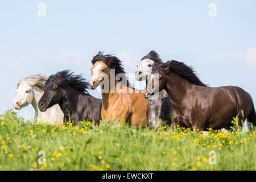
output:
[[164, 89], [175, 103], [181, 103], [189, 94], [189, 90], [195, 86], [175, 73], [169, 73], [164, 79]]

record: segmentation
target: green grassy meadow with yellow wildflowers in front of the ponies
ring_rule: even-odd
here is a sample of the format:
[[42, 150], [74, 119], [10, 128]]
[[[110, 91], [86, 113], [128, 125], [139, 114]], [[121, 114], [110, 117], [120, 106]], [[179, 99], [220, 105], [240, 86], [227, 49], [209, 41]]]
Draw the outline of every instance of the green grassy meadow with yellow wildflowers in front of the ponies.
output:
[[256, 169], [255, 130], [210, 130], [204, 137], [180, 127], [82, 125], [36, 125], [7, 111], [0, 115], [0, 170]]

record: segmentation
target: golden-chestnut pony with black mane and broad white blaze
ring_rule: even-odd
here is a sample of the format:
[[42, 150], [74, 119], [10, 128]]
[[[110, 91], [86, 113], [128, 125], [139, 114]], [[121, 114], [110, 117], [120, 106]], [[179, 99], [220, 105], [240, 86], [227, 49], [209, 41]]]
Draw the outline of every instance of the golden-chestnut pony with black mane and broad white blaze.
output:
[[129, 84], [118, 57], [98, 52], [92, 60], [90, 89], [101, 86], [102, 119], [120, 119], [119, 124], [147, 125], [147, 100]]

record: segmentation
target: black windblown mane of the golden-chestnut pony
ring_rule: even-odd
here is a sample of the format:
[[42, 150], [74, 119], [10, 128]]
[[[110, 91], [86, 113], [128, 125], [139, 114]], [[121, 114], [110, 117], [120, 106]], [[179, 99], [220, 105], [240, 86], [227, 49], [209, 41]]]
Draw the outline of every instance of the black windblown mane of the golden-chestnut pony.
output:
[[[92, 59], [92, 64], [94, 65], [97, 61], [102, 61], [104, 64], [108, 65], [110, 69], [115, 70], [115, 77], [119, 73], [125, 74], [125, 69], [123, 68], [122, 61], [119, 60], [118, 57], [112, 56], [112, 55], [104, 55], [102, 51], [98, 52], [96, 56], [93, 57]], [[129, 80], [127, 77], [125, 77], [125, 80], [119, 80], [121, 82], [126, 82], [129, 88], [134, 89], [133, 85], [130, 84]]]

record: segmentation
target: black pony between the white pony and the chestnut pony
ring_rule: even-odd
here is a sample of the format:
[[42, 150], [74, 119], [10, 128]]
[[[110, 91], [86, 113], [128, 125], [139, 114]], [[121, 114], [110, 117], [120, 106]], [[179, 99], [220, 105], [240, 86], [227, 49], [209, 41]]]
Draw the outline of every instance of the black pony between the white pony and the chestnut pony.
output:
[[81, 75], [65, 70], [48, 78], [44, 94], [38, 102], [40, 111], [59, 104], [64, 113], [64, 122], [70, 119], [73, 123], [83, 119], [94, 120], [97, 124], [101, 119], [102, 100], [90, 96], [88, 82]]

